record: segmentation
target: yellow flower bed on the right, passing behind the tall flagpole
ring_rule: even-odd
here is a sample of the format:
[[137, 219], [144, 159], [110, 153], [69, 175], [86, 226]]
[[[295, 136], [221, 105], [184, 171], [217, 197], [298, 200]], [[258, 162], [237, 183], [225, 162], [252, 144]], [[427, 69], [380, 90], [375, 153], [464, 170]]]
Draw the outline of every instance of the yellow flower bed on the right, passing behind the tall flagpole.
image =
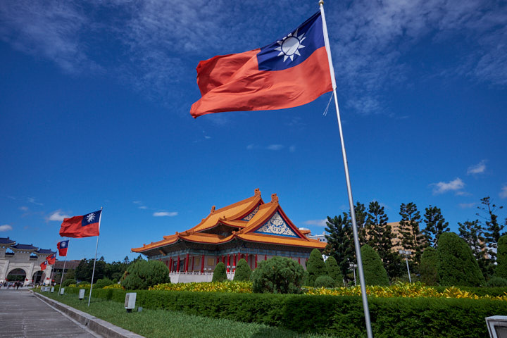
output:
[[[321, 295], [327, 294], [331, 296], [361, 296], [361, 287], [337, 287], [334, 289], [325, 289], [324, 287], [315, 288], [308, 287], [306, 294]], [[468, 298], [468, 299], [495, 299], [499, 301], [507, 301], [507, 293], [503, 296], [477, 296], [470, 292], [462, 291], [458, 287], [448, 287], [444, 292], [438, 292], [433, 287], [426, 287], [420, 282], [417, 283], [396, 283], [390, 287], [366, 287], [366, 294], [373, 297], [430, 297], [430, 298]]]

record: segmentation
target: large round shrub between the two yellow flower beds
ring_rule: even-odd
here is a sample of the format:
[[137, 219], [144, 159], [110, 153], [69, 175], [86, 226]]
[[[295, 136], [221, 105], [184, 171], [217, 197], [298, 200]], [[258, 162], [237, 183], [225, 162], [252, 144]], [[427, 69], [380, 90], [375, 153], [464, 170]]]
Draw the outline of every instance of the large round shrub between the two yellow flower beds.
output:
[[304, 270], [287, 257], [273, 257], [261, 261], [251, 273], [253, 292], [273, 294], [299, 294]]

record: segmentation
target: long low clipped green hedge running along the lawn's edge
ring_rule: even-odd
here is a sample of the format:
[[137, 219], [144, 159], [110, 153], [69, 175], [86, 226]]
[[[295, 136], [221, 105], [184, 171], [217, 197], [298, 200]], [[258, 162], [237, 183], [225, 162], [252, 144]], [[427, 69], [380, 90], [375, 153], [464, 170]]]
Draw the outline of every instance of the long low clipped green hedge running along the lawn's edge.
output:
[[[77, 293], [78, 289], [65, 291]], [[125, 291], [97, 289], [93, 296], [125, 301]], [[370, 298], [375, 337], [487, 337], [484, 318], [507, 313], [507, 302], [487, 299]], [[364, 337], [359, 296], [137, 291], [137, 306], [211, 318], [286, 327], [336, 337]]]

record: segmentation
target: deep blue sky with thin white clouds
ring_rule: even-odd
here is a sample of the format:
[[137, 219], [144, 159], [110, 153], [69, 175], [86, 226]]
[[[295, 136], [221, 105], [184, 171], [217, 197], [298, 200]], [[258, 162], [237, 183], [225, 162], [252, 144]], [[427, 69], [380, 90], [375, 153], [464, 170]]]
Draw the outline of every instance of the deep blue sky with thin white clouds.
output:
[[[98, 256], [277, 193], [322, 233], [347, 211], [330, 94], [298, 108], [194, 120], [196, 65], [284, 37], [318, 1], [0, 3], [0, 237], [56, 249], [64, 216], [104, 207]], [[355, 201], [442, 208], [451, 230], [484, 196], [507, 205], [502, 1], [326, 1]], [[499, 211], [503, 222], [506, 209]], [[96, 238], [71, 239], [69, 259]]]

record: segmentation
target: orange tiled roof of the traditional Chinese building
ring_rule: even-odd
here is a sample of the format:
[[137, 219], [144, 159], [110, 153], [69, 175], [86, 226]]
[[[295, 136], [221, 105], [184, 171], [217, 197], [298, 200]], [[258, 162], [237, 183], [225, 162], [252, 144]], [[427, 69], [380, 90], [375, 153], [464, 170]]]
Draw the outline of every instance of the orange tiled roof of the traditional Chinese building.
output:
[[[249, 215], [255, 208], [258, 211], [249, 220], [242, 220]], [[270, 218], [279, 213], [288, 227], [296, 234], [296, 237], [287, 237], [277, 234], [261, 234], [256, 233], [259, 227], [267, 223]], [[239, 228], [239, 231], [233, 231], [230, 236], [224, 237], [219, 234], [209, 234], [202, 231], [211, 229], [217, 225], [230, 225]], [[164, 239], [151, 244], [144, 244], [140, 248], [133, 248], [134, 252], [144, 252], [150, 249], [156, 249], [161, 246], [174, 244], [178, 240], [205, 244], [223, 244], [233, 239], [242, 239], [247, 242], [259, 242], [267, 244], [280, 244], [288, 246], [304, 246], [324, 249], [326, 244], [318, 242], [315, 239], [308, 239], [301, 230], [292, 223], [292, 221], [284, 213], [276, 194], [271, 195], [271, 201], [264, 203], [261, 199], [261, 192], [256, 189], [255, 195], [244, 199], [230, 206], [225, 206], [215, 210], [211, 208], [211, 213], [204, 218], [201, 223], [184, 232], [176, 232], [170, 236], [164, 236]]]

